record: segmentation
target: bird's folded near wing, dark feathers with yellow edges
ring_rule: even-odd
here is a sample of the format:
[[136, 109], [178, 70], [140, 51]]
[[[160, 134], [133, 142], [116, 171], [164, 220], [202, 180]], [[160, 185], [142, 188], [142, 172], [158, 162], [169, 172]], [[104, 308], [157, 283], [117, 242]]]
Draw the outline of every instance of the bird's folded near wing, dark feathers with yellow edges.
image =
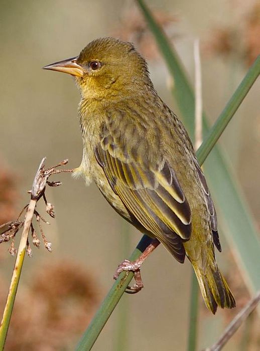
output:
[[183, 241], [191, 235], [191, 210], [173, 168], [163, 160], [163, 166], [153, 169], [140, 155], [139, 162], [134, 161], [110, 137], [102, 139], [95, 155], [125, 207], [183, 262]]

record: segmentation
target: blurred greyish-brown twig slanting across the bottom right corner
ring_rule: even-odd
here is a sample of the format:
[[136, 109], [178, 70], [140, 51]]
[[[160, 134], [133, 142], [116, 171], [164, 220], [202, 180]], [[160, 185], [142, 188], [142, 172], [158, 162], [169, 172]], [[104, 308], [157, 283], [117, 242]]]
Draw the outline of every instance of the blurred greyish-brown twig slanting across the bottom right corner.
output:
[[248, 315], [256, 308], [260, 302], [260, 291], [257, 292], [254, 298], [252, 298], [247, 305], [241, 309], [241, 311], [235, 316], [231, 323], [224, 330], [223, 335], [219, 340], [211, 347], [205, 349], [205, 351], [219, 351], [236, 332], [242, 322], [248, 317]]

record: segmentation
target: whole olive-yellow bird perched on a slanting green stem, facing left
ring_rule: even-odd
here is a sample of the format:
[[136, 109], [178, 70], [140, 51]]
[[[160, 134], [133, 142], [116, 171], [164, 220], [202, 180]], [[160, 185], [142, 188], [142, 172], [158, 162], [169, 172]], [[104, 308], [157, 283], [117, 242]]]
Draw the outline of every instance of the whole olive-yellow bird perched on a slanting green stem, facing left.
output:
[[133, 271], [129, 289], [140, 291], [141, 265], [162, 243], [178, 262], [191, 262], [212, 313], [235, 307], [215, 260], [214, 246], [221, 251], [216, 211], [192, 142], [134, 44], [95, 39], [78, 56], [44, 69], [72, 75], [80, 91], [83, 156], [74, 174], [87, 185], [93, 181], [121, 217], [151, 238], [140, 258], [124, 260], [114, 278]]

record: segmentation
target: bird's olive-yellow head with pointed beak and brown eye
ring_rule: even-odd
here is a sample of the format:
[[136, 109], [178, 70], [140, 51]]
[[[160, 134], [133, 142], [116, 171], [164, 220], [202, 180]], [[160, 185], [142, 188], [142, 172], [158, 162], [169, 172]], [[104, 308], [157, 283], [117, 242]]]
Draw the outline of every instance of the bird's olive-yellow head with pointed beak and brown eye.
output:
[[145, 59], [132, 43], [114, 38], [96, 39], [79, 56], [44, 69], [73, 75], [86, 99], [135, 96], [153, 88]]

